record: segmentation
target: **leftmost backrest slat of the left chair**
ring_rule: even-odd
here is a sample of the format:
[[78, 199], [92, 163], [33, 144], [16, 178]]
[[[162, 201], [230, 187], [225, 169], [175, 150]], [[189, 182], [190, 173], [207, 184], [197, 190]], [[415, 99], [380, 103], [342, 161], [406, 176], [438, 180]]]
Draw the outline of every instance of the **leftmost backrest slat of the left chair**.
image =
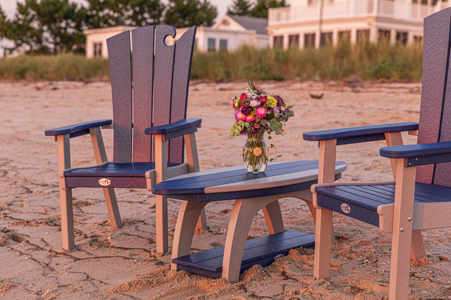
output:
[[132, 67], [130, 33], [107, 39], [114, 118], [115, 163], [129, 163], [132, 157]]

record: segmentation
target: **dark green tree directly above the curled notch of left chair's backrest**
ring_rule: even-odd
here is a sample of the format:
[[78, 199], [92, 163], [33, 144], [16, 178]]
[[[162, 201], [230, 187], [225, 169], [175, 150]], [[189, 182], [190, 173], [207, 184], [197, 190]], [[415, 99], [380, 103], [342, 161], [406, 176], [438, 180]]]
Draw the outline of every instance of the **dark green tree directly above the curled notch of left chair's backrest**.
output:
[[174, 27], [211, 26], [218, 12], [208, 0], [169, 0], [165, 23]]

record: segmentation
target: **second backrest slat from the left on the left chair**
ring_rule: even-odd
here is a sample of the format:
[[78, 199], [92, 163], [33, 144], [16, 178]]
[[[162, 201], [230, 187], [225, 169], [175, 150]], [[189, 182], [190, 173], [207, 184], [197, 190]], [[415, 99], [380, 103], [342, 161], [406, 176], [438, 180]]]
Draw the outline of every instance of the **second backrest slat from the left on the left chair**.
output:
[[150, 162], [152, 136], [153, 49], [155, 26], [132, 30], [133, 42], [133, 162]]

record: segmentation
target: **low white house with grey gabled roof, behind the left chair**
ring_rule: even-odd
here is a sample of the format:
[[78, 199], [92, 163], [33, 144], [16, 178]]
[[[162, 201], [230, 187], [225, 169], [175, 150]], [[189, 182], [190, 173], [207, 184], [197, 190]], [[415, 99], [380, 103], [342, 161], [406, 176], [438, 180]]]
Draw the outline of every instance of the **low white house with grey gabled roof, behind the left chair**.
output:
[[[266, 18], [225, 15], [211, 27], [198, 26], [194, 49], [201, 52], [234, 51], [241, 45], [267, 48], [269, 46], [267, 25], [268, 20]], [[83, 31], [86, 35], [86, 57], [107, 58], [106, 39], [126, 30], [131, 31], [134, 28], [136, 27], [115, 26]], [[187, 30], [188, 27], [176, 28], [175, 41]], [[173, 42], [170, 37], [166, 38], [168, 45]]]

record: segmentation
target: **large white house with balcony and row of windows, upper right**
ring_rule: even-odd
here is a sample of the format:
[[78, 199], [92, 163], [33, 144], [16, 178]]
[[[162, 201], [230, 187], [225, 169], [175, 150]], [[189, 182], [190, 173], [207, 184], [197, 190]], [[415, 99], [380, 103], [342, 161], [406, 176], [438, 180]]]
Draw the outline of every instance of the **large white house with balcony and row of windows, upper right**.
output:
[[408, 44], [423, 38], [423, 18], [449, 6], [448, 0], [291, 0], [288, 7], [269, 9], [270, 47], [381, 38]]

